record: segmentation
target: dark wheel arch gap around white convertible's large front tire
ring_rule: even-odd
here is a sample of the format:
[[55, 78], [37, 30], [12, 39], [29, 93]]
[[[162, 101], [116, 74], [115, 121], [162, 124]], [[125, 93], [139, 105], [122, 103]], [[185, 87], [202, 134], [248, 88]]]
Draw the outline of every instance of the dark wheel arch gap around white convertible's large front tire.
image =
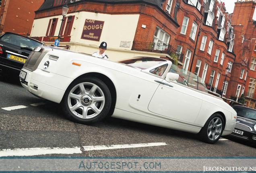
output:
[[78, 76], [74, 80], [83, 78], [85, 76], [86, 77], [90, 76], [90, 77], [99, 78], [100, 80], [102, 80], [107, 85], [107, 87], [108, 87], [108, 89], [111, 93], [111, 107], [110, 107], [108, 116], [111, 116], [114, 113], [114, 109], [115, 109], [115, 106], [116, 106], [116, 87], [115, 87], [114, 83], [112, 82], [112, 80], [108, 76], [106, 76], [102, 73], [99, 73], [99, 72], [85, 73], [85, 74], [82, 74], [82, 75]]

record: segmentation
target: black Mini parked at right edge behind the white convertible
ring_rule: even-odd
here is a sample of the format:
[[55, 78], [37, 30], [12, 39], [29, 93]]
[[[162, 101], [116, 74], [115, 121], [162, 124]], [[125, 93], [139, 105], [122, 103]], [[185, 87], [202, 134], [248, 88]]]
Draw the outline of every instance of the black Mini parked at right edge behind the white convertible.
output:
[[239, 105], [232, 107], [237, 112], [237, 119], [231, 135], [256, 143], [256, 109]]

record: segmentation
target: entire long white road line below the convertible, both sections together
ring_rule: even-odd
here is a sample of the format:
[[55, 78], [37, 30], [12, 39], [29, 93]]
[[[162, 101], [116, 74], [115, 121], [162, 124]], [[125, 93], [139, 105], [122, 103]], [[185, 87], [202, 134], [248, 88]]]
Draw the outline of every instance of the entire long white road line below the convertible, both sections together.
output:
[[8, 156], [33, 156], [33, 155], [47, 155], [47, 154], [74, 154], [82, 153], [82, 151], [105, 150], [105, 149], [124, 149], [137, 147], [154, 147], [167, 145], [166, 143], [140, 143], [140, 144], [124, 144], [124, 145], [96, 145], [83, 146], [73, 148], [23, 148], [23, 149], [2, 149], [0, 150], [0, 157]]

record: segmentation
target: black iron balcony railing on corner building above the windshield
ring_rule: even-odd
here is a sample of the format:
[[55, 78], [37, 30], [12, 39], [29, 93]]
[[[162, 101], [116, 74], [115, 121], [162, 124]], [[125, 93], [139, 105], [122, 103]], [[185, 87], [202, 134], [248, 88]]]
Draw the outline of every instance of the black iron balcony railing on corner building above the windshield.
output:
[[154, 43], [154, 42], [133, 42], [132, 50], [139, 50], [145, 52], [157, 52], [171, 54], [175, 53], [178, 56], [178, 61], [182, 62], [184, 54], [179, 52], [177, 49], [173, 48], [169, 44], [164, 43]]

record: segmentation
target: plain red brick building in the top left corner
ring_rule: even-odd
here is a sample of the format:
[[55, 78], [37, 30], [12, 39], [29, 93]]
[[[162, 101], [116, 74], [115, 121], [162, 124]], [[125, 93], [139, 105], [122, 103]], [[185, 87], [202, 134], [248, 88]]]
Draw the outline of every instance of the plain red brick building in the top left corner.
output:
[[14, 32], [29, 35], [33, 27], [35, 10], [44, 0], [1, 0], [0, 34]]

